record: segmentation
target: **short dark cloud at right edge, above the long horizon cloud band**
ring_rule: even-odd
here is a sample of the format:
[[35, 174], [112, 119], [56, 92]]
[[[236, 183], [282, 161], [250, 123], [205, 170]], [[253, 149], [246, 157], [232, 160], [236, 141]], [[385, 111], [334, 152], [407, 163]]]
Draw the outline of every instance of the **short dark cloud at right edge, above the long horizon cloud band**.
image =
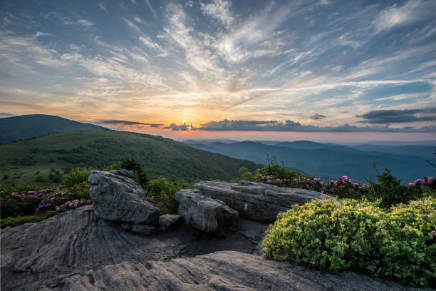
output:
[[375, 110], [356, 117], [363, 118], [360, 123], [390, 124], [418, 121], [436, 121], [436, 107], [405, 110]]

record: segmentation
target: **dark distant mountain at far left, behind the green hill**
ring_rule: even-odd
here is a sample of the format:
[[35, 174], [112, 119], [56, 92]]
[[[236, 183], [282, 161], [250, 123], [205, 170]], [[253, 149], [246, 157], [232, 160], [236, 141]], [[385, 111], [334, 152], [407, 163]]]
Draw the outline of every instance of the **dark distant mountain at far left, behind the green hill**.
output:
[[103, 130], [101, 126], [71, 121], [58, 116], [32, 114], [0, 119], [0, 143], [12, 143], [51, 133], [75, 130]]

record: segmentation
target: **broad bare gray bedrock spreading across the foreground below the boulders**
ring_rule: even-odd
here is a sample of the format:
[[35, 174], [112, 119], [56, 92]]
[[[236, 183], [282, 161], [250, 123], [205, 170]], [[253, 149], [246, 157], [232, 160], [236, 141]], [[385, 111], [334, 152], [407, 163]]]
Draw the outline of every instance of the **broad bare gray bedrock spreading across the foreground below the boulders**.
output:
[[[245, 235], [259, 237], [261, 225], [257, 223], [259, 231], [253, 232], [249, 230], [253, 222], [245, 223]], [[317, 272], [244, 252], [180, 257], [185, 255], [183, 236], [120, 231], [118, 224], [95, 216], [90, 205], [39, 223], [4, 228], [1, 290], [419, 290], [354, 272]], [[199, 247], [189, 233], [185, 236], [190, 247]]]

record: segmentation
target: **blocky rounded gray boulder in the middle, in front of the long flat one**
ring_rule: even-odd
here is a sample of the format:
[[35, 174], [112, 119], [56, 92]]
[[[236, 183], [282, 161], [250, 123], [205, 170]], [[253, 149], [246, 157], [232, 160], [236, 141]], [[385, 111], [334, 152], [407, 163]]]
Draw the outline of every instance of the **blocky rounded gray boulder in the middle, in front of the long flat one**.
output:
[[238, 212], [222, 201], [192, 189], [177, 191], [176, 200], [180, 202], [178, 213], [183, 216], [185, 223], [192, 224], [194, 228], [217, 236], [238, 229]]

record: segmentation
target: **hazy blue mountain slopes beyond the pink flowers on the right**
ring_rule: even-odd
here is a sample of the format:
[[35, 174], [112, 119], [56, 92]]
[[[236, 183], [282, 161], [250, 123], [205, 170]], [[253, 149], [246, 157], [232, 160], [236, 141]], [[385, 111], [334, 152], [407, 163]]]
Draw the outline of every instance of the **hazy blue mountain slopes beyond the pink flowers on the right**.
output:
[[[417, 155], [398, 155], [357, 150], [341, 146], [321, 147], [321, 144], [310, 144], [306, 148], [291, 148], [292, 143], [281, 143], [284, 146], [267, 146], [263, 143], [243, 141], [240, 143], [210, 143], [209, 145], [190, 144], [214, 153], [222, 153], [233, 158], [244, 158], [255, 163], [266, 164], [266, 155], [275, 155], [279, 163], [285, 167], [297, 168], [303, 172], [324, 178], [348, 175], [355, 180], [365, 181], [365, 178], [375, 178], [374, 162], [378, 169], [388, 168], [393, 175], [408, 183], [424, 175], [435, 175], [435, 168], [426, 162], [426, 158]], [[297, 143], [302, 146], [303, 143]], [[307, 145], [304, 145], [307, 146]], [[433, 163], [436, 159], [432, 158]]]

